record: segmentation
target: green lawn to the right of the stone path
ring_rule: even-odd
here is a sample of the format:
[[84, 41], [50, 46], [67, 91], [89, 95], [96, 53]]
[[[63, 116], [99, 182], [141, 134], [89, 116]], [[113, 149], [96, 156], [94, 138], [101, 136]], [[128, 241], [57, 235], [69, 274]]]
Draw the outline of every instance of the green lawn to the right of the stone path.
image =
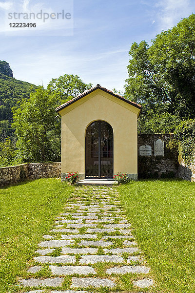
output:
[[143, 180], [118, 192], [159, 291], [195, 293], [195, 183]]

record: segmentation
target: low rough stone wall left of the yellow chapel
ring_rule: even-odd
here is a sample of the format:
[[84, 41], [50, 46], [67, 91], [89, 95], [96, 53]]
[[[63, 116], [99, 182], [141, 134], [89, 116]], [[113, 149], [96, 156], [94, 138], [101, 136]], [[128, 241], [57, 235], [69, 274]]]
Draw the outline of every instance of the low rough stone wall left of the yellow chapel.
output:
[[0, 186], [7, 186], [26, 179], [51, 178], [61, 175], [61, 163], [32, 163], [0, 168]]

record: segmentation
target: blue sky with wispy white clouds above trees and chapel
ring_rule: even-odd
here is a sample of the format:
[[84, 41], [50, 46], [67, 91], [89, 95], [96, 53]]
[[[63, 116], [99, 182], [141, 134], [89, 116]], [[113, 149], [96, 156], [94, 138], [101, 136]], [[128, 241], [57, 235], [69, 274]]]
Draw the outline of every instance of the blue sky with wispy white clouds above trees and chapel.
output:
[[[0, 12], [13, 1], [0, 0]], [[65, 0], [17, 2], [56, 10], [66, 6]], [[193, 12], [194, 0], [74, 0], [72, 35], [48, 36], [49, 26], [41, 36], [0, 34], [0, 60], [10, 63], [16, 79], [33, 84], [46, 86], [52, 78], [77, 74], [85, 83], [122, 90], [131, 44], [150, 42]]]

